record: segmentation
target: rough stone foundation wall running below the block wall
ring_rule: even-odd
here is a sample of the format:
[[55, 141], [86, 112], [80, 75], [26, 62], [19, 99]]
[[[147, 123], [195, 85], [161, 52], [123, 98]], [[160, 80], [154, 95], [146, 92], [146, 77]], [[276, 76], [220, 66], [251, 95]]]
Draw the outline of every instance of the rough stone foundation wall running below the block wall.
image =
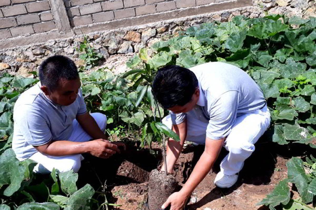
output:
[[[81, 0], [83, 1], [83, 0]], [[234, 16], [245, 15], [251, 18], [266, 14], [287, 14], [301, 17], [316, 16], [315, 1], [306, 0], [264, 0], [256, 1], [253, 6], [228, 9], [219, 12], [193, 15], [173, 20], [157, 21], [150, 24], [130, 26], [108, 31], [97, 31], [87, 34], [88, 41], [97, 52], [103, 55], [100, 65], [106, 64], [117, 71], [125, 71], [125, 61], [139, 49], [153, 43], [168, 39], [179, 30], [211, 21], [229, 21]], [[36, 71], [41, 61], [53, 54], [63, 54], [75, 60], [77, 66], [83, 65], [76, 47], [83, 42], [82, 35], [65, 39], [53, 39], [15, 48], [0, 50], [0, 71], [30, 76], [27, 72]]]

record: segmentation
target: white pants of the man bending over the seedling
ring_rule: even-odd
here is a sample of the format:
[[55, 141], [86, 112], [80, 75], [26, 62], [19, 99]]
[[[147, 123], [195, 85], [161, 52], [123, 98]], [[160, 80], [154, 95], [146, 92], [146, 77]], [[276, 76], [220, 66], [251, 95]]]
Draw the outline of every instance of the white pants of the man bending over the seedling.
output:
[[[170, 115], [163, 118], [162, 122], [169, 128], [172, 127]], [[197, 144], [205, 144], [207, 124], [197, 119], [187, 119], [186, 140]], [[223, 145], [229, 151], [220, 165], [224, 174], [233, 175], [240, 172], [244, 161], [255, 150], [254, 144], [268, 129], [269, 125], [270, 112], [267, 106], [236, 118], [236, 122]]]

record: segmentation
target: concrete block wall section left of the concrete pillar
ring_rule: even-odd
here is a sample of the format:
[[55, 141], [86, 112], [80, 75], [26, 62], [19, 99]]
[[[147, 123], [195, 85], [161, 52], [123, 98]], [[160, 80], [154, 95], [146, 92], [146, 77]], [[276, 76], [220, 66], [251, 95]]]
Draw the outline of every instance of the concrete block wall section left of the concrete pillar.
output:
[[56, 29], [48, 0], [0, 0], [0, 39]]

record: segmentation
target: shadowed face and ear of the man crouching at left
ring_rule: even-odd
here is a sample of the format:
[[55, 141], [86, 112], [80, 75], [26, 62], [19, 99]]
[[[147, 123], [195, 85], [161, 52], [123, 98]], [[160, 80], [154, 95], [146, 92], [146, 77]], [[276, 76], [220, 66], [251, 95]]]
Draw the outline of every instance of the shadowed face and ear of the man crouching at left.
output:
[[61, 79], [55, 90], [50, 91], [46, 86], [42, 86], [41, 89], [54, 103], [68, 106], [75, 102], [80, 86], [81, 82], [79, 78], [74, 80]]

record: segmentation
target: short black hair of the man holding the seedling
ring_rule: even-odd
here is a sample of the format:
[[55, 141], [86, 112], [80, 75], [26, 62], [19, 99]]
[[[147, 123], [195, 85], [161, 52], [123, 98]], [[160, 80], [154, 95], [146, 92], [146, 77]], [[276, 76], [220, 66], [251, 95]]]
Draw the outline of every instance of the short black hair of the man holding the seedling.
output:
[[198, 87], [195, 74], [178, 65], [167, 65], [157, 71], [152, 85], [152, 93], [165, 109], [191, 101]]

